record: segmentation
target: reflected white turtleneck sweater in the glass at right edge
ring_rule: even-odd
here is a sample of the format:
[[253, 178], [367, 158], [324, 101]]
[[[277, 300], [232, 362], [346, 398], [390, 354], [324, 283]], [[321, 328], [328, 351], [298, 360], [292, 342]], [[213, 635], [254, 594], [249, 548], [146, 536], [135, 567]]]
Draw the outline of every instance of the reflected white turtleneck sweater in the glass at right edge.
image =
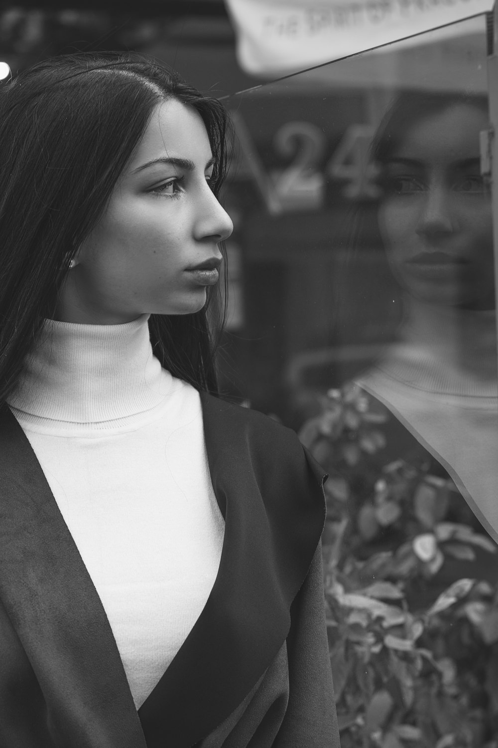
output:
[[452, 476], [498, 542], [497, 328], [492, 311], [406, 300], [400, 343], [358, 384]]

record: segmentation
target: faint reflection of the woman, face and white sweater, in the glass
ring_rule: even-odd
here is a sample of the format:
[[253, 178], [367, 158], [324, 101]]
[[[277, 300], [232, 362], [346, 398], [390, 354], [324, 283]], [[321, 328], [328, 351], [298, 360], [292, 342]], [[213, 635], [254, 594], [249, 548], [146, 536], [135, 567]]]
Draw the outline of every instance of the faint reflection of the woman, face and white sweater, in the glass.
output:
[[487, 127], [484, 99], [410, 93], [376, 136], [379, 229], [403, 289], [403, 322], [399, 343], [360, 383], [445, 466], [498, 538], [493, 233], [479, 169]]

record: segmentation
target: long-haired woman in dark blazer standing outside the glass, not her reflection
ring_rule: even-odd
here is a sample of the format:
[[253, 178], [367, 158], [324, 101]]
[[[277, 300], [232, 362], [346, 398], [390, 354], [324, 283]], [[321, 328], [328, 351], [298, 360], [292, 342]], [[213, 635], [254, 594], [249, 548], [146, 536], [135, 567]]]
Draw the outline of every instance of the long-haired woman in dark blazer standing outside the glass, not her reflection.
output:
[[338, 746], [323, 473], [213, 396], [225, 112], [132, 54], [0, 99], [0, 745]]

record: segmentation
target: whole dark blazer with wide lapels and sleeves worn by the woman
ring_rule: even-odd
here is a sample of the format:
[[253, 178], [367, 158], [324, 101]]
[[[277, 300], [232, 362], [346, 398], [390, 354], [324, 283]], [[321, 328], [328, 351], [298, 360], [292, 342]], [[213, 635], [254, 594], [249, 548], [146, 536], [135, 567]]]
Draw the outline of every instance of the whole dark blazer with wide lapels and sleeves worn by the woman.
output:
[[338, 748], [323, 471], [296, 435], [202, 394], [225, 538], [199, 619], [137, 710], [40, 463], [0, 411], [1, 748]]

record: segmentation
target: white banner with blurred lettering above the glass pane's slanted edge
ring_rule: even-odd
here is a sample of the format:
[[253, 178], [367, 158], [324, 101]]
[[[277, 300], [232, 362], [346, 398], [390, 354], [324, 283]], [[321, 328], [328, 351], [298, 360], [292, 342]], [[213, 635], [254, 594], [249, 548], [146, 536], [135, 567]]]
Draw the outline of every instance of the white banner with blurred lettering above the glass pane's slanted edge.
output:
[[226, 4], [237, 33], [240, 67], [269, 78], [420, 34], [493, 7], [492, 0], [226, 0]]

